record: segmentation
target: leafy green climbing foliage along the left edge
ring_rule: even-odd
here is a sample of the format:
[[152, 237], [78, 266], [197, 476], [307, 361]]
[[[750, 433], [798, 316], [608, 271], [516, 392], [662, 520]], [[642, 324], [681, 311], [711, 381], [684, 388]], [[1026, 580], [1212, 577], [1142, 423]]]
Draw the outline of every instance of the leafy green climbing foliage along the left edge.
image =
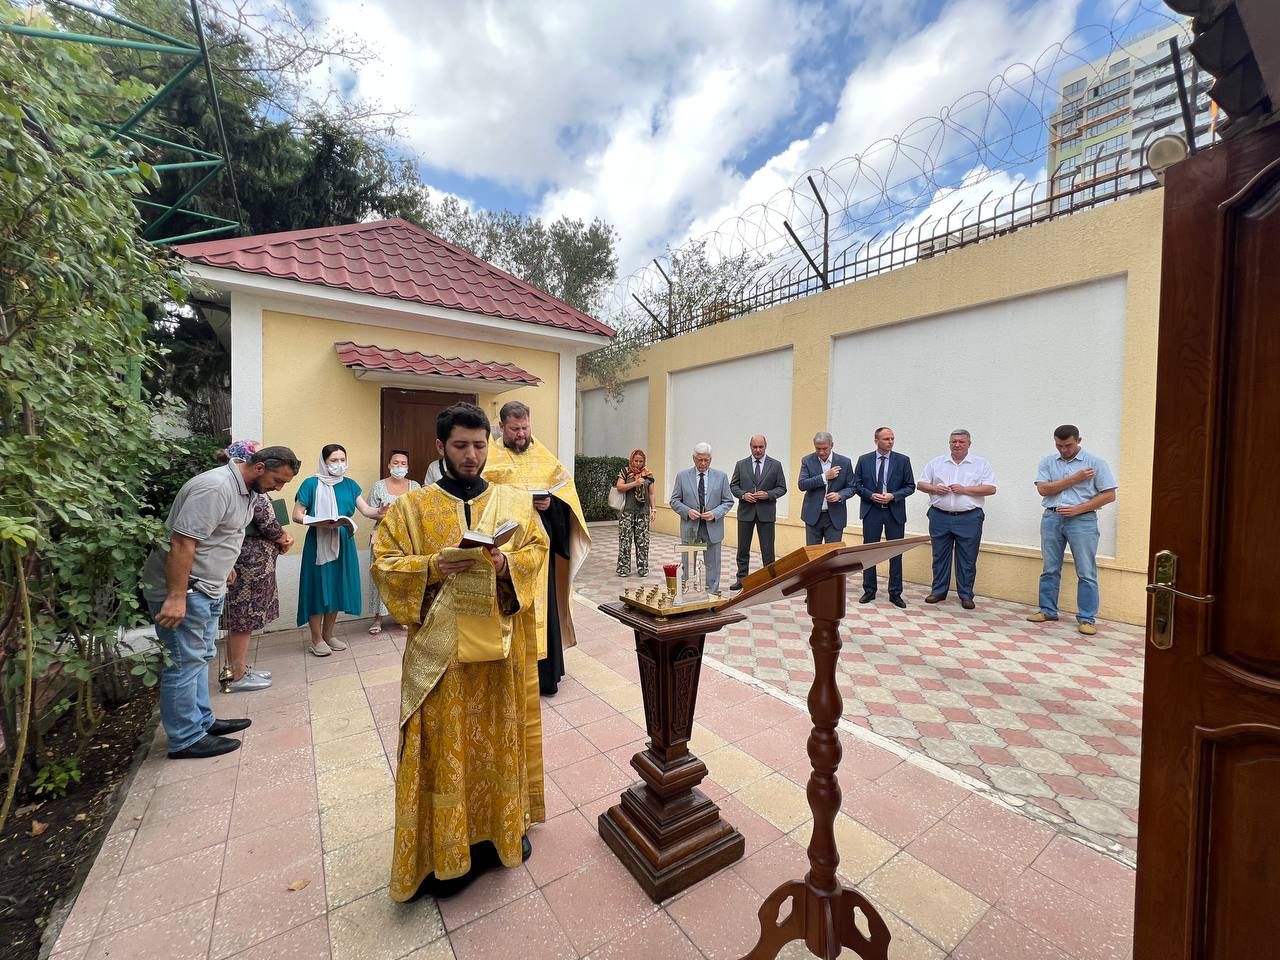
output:
[[[15, 13], [0, 4], [0, 19]], [[142, 92], [90, 47], [0, 33], [0, 823], [38, 751], [40, 682], [78, 687], [87, 735], [105, 681], [154, 680], [118, 649], [161, 531], [141, 492], [170, 456], [138, 374], [154, 362], [146, 305], [180, 301], [187, 282], [138, 234], [132, 195], [150, 169], [109, 175], [124, 147], [93, 122]]]

